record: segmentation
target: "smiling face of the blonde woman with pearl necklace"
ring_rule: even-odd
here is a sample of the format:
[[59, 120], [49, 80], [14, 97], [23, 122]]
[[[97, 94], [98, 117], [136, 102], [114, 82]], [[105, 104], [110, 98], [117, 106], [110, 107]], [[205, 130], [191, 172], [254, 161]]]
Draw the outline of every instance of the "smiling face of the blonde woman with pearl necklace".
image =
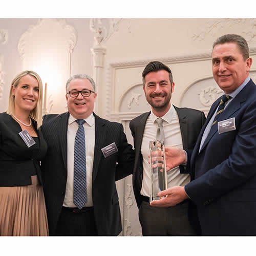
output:
[[16, 87], [12, 86], [12, 94], [15, 97], [15, 113], [30, 113], [36, 107], [38, 101], [39, 87], [37, 79], [31, 75], [23, 76]]

